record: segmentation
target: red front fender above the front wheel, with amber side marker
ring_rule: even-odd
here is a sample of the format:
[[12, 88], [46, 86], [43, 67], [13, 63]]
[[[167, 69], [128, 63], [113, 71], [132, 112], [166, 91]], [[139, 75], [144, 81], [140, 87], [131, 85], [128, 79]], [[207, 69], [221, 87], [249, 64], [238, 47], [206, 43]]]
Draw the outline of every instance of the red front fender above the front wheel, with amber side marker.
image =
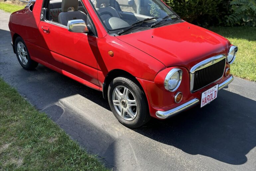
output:
[[[154, 81], [156, 74], [165, 68], [157, 59], [116, 37], [108, 35], [99, 39], [98, 47], [98, 69], [102, 71], [104, 77], [114, 69], [121, 69], [134, 77]], [[114, 57], [108, 55], [109, 50], [114, 52]], [[102, 81], [104, 80], [99, 80], [100, 83]]]

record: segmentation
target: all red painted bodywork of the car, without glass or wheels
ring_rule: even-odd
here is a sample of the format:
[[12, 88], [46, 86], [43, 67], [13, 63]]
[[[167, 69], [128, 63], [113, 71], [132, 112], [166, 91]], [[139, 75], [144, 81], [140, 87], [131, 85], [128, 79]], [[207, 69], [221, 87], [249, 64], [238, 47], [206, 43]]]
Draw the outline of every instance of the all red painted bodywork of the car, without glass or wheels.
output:
[[[71, 33], [66, 28], [40, 22], [43, 0], [37, 0], [33, 12], [29, 8], [10, 17], [12, 38], [16, 34], [25, 41], [33, 60], [62, 73], [86, 86], [102, 91], [106, 76], [120, 69], [133, 75], [143, 88], [150, 110], [173, 109], [198, 98], [214, 84], [190, 92], [189, 71], [195, 64], [209, 57], [227, 53], [230, 42], [206, 29], [187, 22], [150, 29], [123, 36], [110, 36], [89, 1], [82, 0], [95, 26], [97, 37]], [[13, 40], [15, 41], [15, 40]], [[114, 56], [108, 55], [112, 50]], [[167, 73], [175, 67], [183, 70], [183, 79], [175, 92], [164, 88]], [[226, 67], [230, 67], [226, 64]], [[174, 102], [176, 92], [183, 92], [180, 104]]]

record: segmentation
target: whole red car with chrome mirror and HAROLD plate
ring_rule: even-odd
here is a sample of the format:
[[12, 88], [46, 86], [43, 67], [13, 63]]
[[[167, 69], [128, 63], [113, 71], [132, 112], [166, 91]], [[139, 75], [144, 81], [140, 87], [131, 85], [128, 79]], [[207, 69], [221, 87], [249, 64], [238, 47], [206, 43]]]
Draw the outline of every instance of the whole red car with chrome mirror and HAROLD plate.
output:
[[9, 28], [23, 68], [41, 63], [102, 91], [131, 128], [217, 98], [238, 50], [161, 0], [32, 0]]

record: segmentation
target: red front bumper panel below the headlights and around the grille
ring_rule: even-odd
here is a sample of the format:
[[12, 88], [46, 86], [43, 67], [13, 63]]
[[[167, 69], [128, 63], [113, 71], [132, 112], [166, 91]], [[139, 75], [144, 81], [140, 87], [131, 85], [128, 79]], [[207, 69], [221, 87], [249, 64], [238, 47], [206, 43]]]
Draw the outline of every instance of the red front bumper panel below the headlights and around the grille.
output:
[[[172, 68], [174, 68], [174, 67], [172, 67]], [[186, 70], [185, 68], [182, 68], [182, 69], [183, 69], [183, 71]], [[142, 87], [145, 91], [145, 94], [147, 96], [147, 100], [149, 103], [149, 110], [150, 110], [150, 113], [152, 114], [151, 115], [152, 117], [157, 118], [156, 117], [157, 111], [168, 111], [168, 110], [176, 108], [194, 98], [201, 99], [202, 92], [206, 91], [207, 89], [213, 87], [216, 84], [220, 84], [220, 83], [224, 82], [231, 76], [231, 75], [228, 77], [223, 76], [220, 80], [206, 86], [205, 88], [202, 88], [201, 90], [199, 90], [195, 93], [191, 93], [189, 91], [190, 90], [190, 81], [187, 81], [187, 80], [189, 80], [189, 73], [186, 72], [183, 75], [183, 81], [182, 81], [180, 87], [178, 88], [178, 90], [175, 92], [170, 92], [170, 91], [167, 91], [163, 86], [160, 86], [160, 83], [163, 82], [162, 80], [165, 79], [166, 74], [170, 70], [171, 69], [168, 68], [168, 69], [164, 70], [162, 73], [159, 73], [159, 75], [157, 75], [157, 76], [159, 76], [159, 78], [158, 78], [158, 80], [155, 80], [156, 82], [137, 78], [137, 80], [142, 85]], [[179, 91], [183, 93], [183, 99], [179, 104], [177, 104], [174, 101], [174, 96]]]

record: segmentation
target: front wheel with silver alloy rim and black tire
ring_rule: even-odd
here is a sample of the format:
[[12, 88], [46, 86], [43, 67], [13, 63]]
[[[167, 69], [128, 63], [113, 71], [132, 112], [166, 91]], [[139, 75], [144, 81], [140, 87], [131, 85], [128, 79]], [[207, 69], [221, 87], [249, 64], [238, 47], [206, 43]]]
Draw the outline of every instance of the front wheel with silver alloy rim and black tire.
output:
[[126, 127], [141, 127], [151, 118], [146, 97], [132, 78], [117, 77], [111, 81], [108, 102], [115, 117]]

